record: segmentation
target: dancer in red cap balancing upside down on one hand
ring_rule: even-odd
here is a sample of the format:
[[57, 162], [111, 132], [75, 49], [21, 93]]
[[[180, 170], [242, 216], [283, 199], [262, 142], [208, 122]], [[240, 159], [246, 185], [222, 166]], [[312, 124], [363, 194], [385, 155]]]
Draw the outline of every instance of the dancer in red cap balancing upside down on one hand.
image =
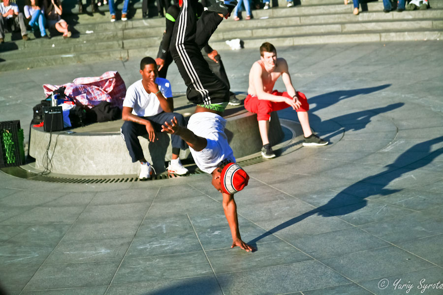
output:
[[186, 141], [198, 168], [212, 175], [212, 185], [223, 195], [223, 210], [233, 240], [231, 248], [239, 246], [249, 252], [255, 249], [240, 236], [234, 201], [234, 193], [248, 185], [249, 176], [235, 163], [224, 133], [226, 120], [221, 117], [229, 102], [229, 89], [209, 69], [200, 52], [223, 17], [230, 15], [237, 1], [216, 0], [198, 21], [196, 3], [197, 0], [183, 0], [170, 50], [188, 86], [187, 97], [197, 106], [187, 128], [179, 126], [177, 120], [173, 119], [164, 122], [161, 131], [179, 135]]

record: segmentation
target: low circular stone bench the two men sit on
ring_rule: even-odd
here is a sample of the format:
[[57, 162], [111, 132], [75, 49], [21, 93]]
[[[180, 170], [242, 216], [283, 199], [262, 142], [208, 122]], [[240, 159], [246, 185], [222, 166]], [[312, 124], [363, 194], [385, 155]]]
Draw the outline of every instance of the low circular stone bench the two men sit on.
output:
[[[183, 96], [174, 97], [175, 112], [186, 119], [194, 111], [194, 105]], [[262, 142], [258, 131], [256, 114], [249, 113], [243, 106], [228, 108], [224, 112], [227, 120], [225, 133], [234, 156], [239, 159], [261, 150]], [[50, 168], [51, 173], [76, 176], [136, 175], [139, 163], [132, 163], [126, 144], [120, 135], [123, 120], [94, 123], [85, 127], [64, 131], [44, 132], [43, 127], [32, 127], [29, 154], [35, 158], [34, 168]], [[283, 130], [277, 113], [271, 114], [269, 139], [277, 144], [283, 139]], [[165, 171], [165, 161], [172, 155], [170, 134], [157, 132], [158, 141], [150, 143], [147, 137], [139, 137], [147, 161], [157, 174]], [[45, 157], [51, 141], [48, 157]], [[189, 148], [181, 150], [180, 158], [191, 158]], [[51, 159], [49, 164], [49, 159]], [[52, 167], [52, 168], [51, 168]]]

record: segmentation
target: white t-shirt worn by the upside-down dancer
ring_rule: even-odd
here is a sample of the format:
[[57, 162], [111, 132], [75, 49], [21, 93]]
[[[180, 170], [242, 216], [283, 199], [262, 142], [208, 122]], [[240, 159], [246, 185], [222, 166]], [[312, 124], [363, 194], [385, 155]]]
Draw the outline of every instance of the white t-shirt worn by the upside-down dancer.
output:
[[188, 129], [207, 141], [206, 148], [201, 151], [189, 147], [195, 164], [201, 171], [211, 174], [225, 159], [235, 163], [234, 153], [224, 133], [225, 126], [226, 120], [214, 113], [200, 112], [190, 117]]

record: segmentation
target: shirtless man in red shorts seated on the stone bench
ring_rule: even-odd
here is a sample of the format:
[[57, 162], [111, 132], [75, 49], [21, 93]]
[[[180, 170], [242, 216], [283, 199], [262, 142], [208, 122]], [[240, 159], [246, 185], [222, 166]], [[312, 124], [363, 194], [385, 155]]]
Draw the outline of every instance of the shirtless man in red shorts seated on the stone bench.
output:
[[[245, 99], [245, 108], [257, 114], [258, 129], [263, 142], [261, 155], [265, 158], [275, 157], [268, 139], [270, 114], [288, 107], [297, 111], [305, 136], [303, 146], [327, 145], [327, 141], [322, 140], [311, 131], [308, 118], [308, 100], [303, 93], [296, 92], [292, 86], [286, 60], [278, 59], [274, 45], [268, 42], [260, 46], [260, 56], [260, 60], [254, 62], [249, 72], [249, 88], [248, 96]], [[285, 83], [285, 92], [273, 90], [275, 82], [280, 76]]]

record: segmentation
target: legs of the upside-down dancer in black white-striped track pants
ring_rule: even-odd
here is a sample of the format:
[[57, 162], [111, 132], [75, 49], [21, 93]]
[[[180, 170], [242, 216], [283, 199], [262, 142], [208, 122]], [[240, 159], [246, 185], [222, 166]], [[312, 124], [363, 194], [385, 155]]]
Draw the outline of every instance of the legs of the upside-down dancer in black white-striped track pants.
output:
[[188, 87], [188, 100], [194, 104], [224, 109], [229, 103], [228, 86], [211, 71], [200, 50], [236, 3], [235, 0], [215, 0], [197, 19], [197, 0], [183, 0], [169, 50]]

